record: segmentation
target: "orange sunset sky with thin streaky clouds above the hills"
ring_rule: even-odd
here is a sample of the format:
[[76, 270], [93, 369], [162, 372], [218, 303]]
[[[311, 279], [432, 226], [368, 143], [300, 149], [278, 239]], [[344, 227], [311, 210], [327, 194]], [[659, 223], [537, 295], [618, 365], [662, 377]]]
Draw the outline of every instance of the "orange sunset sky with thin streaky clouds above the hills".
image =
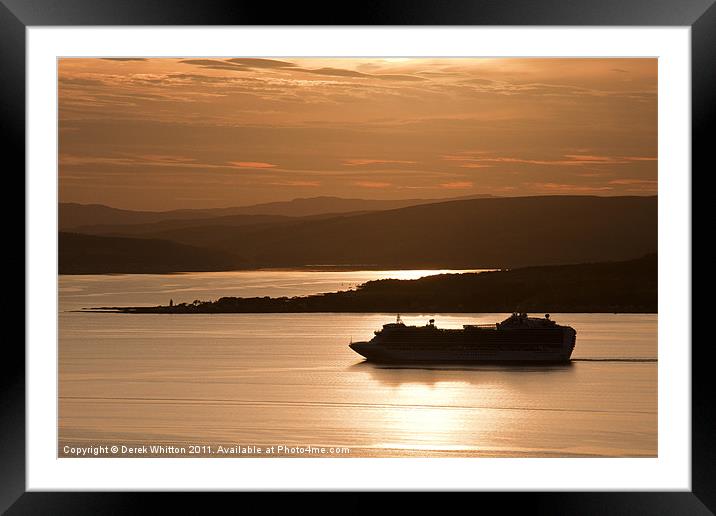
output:
[[656, 59], [62, 59], [60, 201], [655, 194]]

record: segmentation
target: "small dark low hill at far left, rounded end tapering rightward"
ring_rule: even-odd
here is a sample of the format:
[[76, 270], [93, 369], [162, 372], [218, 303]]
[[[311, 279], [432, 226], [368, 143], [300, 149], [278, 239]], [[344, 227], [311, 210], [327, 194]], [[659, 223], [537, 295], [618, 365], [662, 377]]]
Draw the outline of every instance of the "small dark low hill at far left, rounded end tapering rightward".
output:
[[60, 274], [167, 273], [236, 268], [236, 256], [165, 240], [59, 234]]

